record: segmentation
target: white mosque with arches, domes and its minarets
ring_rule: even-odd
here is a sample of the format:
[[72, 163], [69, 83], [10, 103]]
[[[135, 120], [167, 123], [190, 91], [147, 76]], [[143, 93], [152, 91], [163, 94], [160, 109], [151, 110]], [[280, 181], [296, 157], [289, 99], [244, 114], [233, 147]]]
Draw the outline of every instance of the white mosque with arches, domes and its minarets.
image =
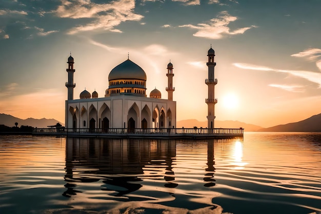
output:
[[[208, 51], [208, 127], [214, 128], [214, 50]], [[156, 88], [147, 97], [145, 71], [128, 59], [114, 67], [108, 76], [108, 88], [104, 97], [99, 98], [98, 93], [90, 93], [86, 89], [81, 92], [79, 99], [73, 99], [74, 59], [68, 58], [68, 100], [66, 100], [65, 126], [66, 128], [100, 128], [103, 131], [110, 128], [176, 128], [176, 101], [173, 101], [173, 64], [167, 65], [168, 99], [162, 99], [162, 94]]]

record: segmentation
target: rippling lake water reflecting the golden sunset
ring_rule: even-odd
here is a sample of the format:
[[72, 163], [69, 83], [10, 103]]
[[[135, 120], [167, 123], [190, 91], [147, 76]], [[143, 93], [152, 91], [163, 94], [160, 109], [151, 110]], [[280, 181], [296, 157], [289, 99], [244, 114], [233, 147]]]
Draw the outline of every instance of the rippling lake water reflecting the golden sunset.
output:
[[321, 213], [321, 133], [0, 135], [0, 213]]

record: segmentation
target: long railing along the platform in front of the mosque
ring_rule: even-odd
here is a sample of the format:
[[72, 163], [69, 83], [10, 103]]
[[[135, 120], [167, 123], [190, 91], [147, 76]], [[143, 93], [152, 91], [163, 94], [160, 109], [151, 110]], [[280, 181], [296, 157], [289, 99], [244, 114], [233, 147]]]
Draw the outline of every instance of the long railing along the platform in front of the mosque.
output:
[[153, 135], [153, 134], [167, 134], [167, 135], [243, 135], [243, 128], [35, 128], [34, 134], [97, 134], [97, 135]]

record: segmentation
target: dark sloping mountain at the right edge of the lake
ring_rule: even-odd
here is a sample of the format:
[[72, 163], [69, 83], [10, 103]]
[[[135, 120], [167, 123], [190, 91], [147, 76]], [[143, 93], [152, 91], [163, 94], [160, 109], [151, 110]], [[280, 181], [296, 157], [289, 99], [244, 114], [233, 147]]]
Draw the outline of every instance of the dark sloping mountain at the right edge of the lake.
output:
[[303, 121], [263, 128], [258, 131], [321, 131], [321, 113]]

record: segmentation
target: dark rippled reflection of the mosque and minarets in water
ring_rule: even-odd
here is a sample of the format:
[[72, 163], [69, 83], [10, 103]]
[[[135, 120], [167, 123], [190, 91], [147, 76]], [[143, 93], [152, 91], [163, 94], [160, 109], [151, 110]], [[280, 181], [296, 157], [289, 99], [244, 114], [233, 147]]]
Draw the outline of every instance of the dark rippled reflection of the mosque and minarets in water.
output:
[[[102, 180], [102, 190], [123, 196], [142, 187], [144, 178], [164, 179], [165, 187], [175, 188], [173, 160], [175, 140], [67, 138], [66, 175], [63, 196], [79, 192], [77, 182]], [[208, 141], [204, 186], [214, 186], [214, 142]]]

